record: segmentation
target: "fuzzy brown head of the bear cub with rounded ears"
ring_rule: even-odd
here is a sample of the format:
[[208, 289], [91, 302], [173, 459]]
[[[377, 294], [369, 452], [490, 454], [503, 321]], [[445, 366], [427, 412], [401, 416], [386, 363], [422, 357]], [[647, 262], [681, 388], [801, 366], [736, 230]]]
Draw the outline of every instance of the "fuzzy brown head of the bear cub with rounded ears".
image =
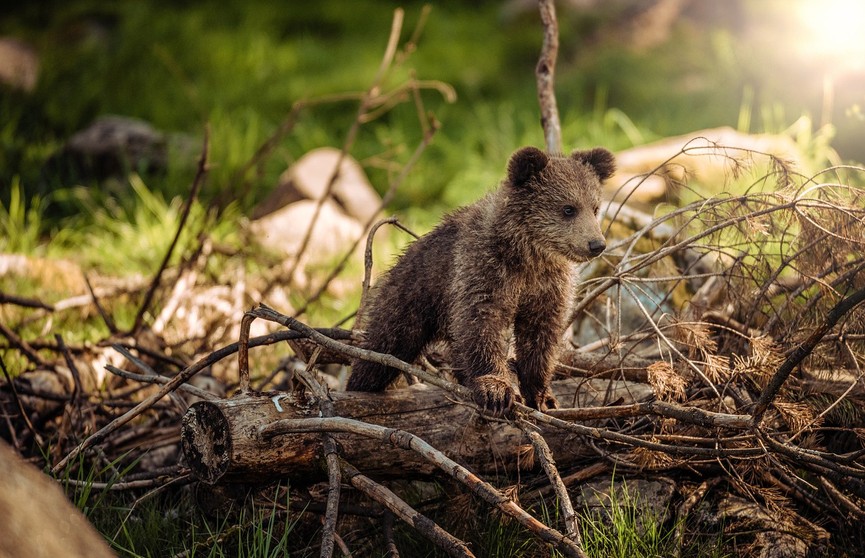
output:
[[549, 155], [535, 147], [508, 162], [507, 206], [533, 251], [586, 261], [607, 247], [598, 222], [601, 183], [613, 175], [613, 154], [602, 147]]

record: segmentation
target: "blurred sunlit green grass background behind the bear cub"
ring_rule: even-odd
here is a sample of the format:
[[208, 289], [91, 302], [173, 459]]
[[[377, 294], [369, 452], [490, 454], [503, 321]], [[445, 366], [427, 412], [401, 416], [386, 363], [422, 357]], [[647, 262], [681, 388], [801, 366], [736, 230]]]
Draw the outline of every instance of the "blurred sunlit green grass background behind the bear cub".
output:
[[[865, 17], [858, 4], [560, 2], [556, 85], [565, 148], [623, 149], [721, 125], [776, 133], [801, 127], [805, 116], [810, 133], [831, 138], [842, 159], [865, 160], [865, 41], [855, 32]], [[422, 93], [442, 127], [393, 208], [435, 213], [492, 187], [514, 148], [543, 144], [533, 73], [542, 29], [531, 1], [430, 6], [416, 51], [390, 81], [413, 72], [450, 84], [457, 98], [448, 103], [437, 91]], [[342, 145], [355, 101], [303, 111], [250, 177], [248, 191], [232, 180], [293, 103], [369, 85], [396, 7], [405, 9], [405, 41], [424, 3], [7, 5], [0, 36], [28, 45], [39, 72], [30, 91], [0, 85], [0, 201], [8, 205], [13, 190], [36, 196], [43, 235], [81, 226], [93, 207], [138, 203], [123, 180], [70, 175], [49, 164], [75, 131], [116, 114], [171, 134], [167, 172], [144, 177], [167, 199], [188, 191], [208, 124], [213, 168], [203, 199], [239, 198], [236, 207], [248, 213], [304, 152]], [[421, 134], [417, 111], [406, 102], [365, 125], [352, 153], [383, 191]]]

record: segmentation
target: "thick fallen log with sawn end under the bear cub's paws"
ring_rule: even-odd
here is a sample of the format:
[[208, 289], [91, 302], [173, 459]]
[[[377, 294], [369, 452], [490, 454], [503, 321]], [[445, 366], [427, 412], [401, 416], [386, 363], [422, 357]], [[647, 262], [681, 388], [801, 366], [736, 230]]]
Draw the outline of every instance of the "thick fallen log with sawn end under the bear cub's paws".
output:
[[[627, 381], [570, 378], [554, 382], [553, 390], [560, 400], [582, 407], [652, 397], [649, 386]], [[525, 457], [529, 441], [516, 424], [484, 417], [473, 405], [455, 400], [442, 389], [332, 392], [330, 398], [334, 416], [416, 434], [476, 474], [513, 473], [534, 466], [534, 460]], [[319, 403], [296, 392], [250, 393], [195, 403], [181, 430], [186, 462], [193, 475], [210, 484], [263, 483], [285, 477], [300, 484], [326, 480], [321, 434], [293, 433], [272, 439], [262, 435], [279, 420], [321, 416]], [[573, 433], [542, 427], [541, 434], [560, 467], [595, 455]], [[421, 478], [436, 471], [420, 456], [379, 440], [347, 433], [332, 436], [340, 455], [370, 477]]]

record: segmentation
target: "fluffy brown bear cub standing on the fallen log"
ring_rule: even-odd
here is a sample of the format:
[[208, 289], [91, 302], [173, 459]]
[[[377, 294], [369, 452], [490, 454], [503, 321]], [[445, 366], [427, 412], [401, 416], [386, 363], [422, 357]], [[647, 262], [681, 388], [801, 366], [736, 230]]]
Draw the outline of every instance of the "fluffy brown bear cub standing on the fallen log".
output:
[[[498, 190], [446, 216], [382, 279], [363, 348], [412, 362], [445, 340], [454, 375], [478, 405], [496, 414], [515, 401], [555, 407], [549, 384], [574, 292], [572, 264], [606, 248], [597, 214], [601, 182], [614, 170], [613, 154], [600, 147], [570, 157], [515, 152]], [[522, 397], [507, 381], [511, 371]], [[398, 375], [358, 360], [348, 389], [382, 391]]]

